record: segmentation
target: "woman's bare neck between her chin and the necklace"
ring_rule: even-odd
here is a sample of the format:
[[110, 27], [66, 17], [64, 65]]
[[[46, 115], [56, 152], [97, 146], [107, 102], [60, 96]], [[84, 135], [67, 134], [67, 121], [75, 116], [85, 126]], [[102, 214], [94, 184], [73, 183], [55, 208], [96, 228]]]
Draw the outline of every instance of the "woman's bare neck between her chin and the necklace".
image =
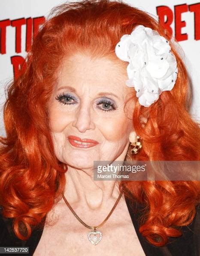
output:
[[117, 200], [120, 191], [116, 181], [94, 181], [93, 174], [68, 166], [64, 196], [71, 204], [86, 209], [106, 209], [108, 202]]

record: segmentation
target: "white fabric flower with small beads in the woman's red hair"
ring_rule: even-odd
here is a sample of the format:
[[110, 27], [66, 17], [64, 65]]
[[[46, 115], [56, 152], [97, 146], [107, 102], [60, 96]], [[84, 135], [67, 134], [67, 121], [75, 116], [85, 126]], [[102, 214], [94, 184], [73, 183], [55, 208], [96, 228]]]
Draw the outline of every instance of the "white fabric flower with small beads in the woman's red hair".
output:
[[126, 85], [134, 87], [142, 106], [156, 102], [162, 91], [170, 91], [178, 69], [169, 42], [157, 31], [142, 25], [124, 34], [115, 47], [119, 59], [129, 62]]

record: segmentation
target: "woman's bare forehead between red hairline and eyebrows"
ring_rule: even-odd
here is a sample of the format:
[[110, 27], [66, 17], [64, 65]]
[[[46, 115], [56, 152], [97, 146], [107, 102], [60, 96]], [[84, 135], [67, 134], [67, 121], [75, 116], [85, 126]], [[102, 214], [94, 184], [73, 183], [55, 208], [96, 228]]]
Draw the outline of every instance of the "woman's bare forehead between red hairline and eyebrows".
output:
[[[125, 65], [124, 65], [125, 64]], [[108, 91], [123, 97], [130, 89], [126, 86], [126, 63], [113, 62], [110, 59], [91, 59], [89, 56], [71, 56], [63, 59], [58, 69], [59, 86], [69, 85], [81, 88], [81, 91], [91, 94], [97, 91]], [[85, 87], [85, 85], [87, 85]], [[95, 86], [92, 86], [92, 85]], [[110, 85], [110, 88], [109, 88]], [[84, 86], [84, 87], [83, 87]], [[88, 87], [88, 88], [87, 88]], [[78, 91], [79, 91], [78, 89]]]

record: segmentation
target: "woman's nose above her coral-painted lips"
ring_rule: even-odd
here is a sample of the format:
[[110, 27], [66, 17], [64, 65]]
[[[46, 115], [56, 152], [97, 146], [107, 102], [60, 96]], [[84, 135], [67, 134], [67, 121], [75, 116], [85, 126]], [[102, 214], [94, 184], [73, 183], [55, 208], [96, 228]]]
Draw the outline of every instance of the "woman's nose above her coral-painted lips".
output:
[[89, 107], [80, 107], [76, 114], [72, 126], [76, 127], [79, 132], [84, 133], [88, 129], [94, 129], [94, 120], [91, 118]]

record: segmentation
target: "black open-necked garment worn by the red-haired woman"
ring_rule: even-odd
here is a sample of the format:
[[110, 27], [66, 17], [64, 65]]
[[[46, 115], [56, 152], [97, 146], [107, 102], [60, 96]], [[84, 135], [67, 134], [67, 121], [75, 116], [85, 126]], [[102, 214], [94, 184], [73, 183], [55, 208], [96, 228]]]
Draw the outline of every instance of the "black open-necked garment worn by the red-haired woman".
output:
[[[188, 226], [180, 228], [183, 233], [181, 237], [170, 238], [169, 244], [163, 247], [155, 247], [149, 244], [139, 233], [138, 220], [141, 216], [142, 205], [139, 203], [131, 203], [127, 197], [125, 197], [125, 200], [139, 242], [146, 256], [200, 256], [200, 206], [196, 208], [197, 214], [193, 222]], [[33, 230], [31, 237], [27, 241], [22, 241], [18, 239], [12, 231], [12, 219], [6, 219], [0, 214], [0, 247], [29, 247], [29, 253], [21, 254], [21, 256], [32, 256], [39, 244], [42, 232], [43, 226], [41, 229]], [[127, 239], [130, 239], [130, 237], [127, 237]], [[20, 254], [0, 254], [0, 256], [1, 255], [13, 256]], [[68, 255], [66, 254], [66, 256]]]

